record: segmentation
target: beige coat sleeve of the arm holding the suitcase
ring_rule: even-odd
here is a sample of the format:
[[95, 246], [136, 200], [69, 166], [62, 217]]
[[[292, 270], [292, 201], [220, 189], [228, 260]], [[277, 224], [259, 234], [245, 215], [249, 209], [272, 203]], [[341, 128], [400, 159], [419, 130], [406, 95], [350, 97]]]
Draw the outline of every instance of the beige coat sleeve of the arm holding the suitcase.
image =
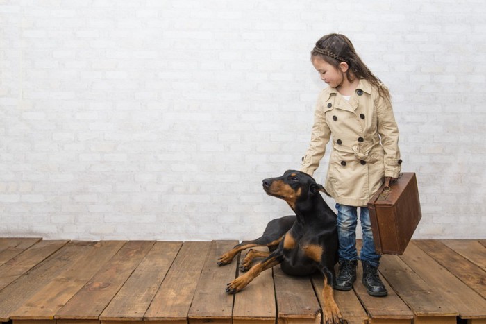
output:
[[399, 128], [389, 100], [378, 96], [377, 101], [378, 134], [385, 150], [385, 177], [398, 178], [401, 171]]

